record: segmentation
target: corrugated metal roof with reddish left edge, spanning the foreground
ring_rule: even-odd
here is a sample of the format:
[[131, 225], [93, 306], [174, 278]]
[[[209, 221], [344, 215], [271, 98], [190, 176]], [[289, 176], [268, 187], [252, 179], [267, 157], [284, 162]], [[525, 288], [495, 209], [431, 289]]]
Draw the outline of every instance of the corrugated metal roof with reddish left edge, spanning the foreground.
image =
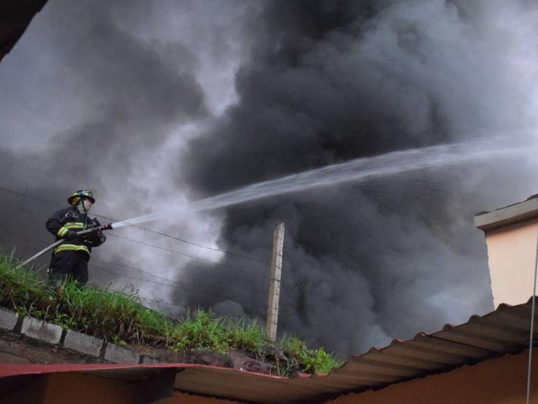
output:
[[[475, 364], [528, 347], [531, 300], [501, 304], [485, 316], [467, 323], [447, 324], [433, 334], [420, 332], [408, 341], [394, 340], [385, 348], [354, 355], [329, 375], [287, 379], [230, 368], [194, 364], [157, 365], [2, 365], [0, 377], [14, 374], [84, 371], [106, 377], [137, 380], [164, 368], [175, 368], [175, 389], [191, 394], [251, 403], [319, 402], [351, 391], [379, 389], [426, 375]], [[535, 317], [538, 317], [538, 313]], [[538, 318], [535, 318], [537, 320]], [[536, 339], [536, 332], [533, 339]]]

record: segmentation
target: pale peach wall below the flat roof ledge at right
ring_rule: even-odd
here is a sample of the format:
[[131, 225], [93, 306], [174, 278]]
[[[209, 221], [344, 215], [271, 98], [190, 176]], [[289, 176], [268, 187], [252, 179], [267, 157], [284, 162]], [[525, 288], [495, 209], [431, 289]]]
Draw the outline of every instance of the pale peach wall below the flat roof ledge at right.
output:
[[486, 233], [493, 304], [521, 304], [532, 296], [538, 219]]

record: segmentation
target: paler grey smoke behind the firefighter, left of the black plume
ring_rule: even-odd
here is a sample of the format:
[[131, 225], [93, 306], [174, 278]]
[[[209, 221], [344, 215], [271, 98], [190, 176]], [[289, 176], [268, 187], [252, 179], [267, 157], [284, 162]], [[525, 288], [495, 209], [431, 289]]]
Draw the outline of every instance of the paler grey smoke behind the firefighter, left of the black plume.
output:
[[[229, 83], [241, 58], [242, 24], [232, 22], [244, 9], [200, 1], [159, 7], [49, 1], [0, 66], [0, 187], [37, 197], [1, 192], [3, 250], [15, 246], [17, 255], [30, 256], [51, 244], [45, 219], [84, 187], [99, 191], [93, 213], [116, 219], [184, 205], [189, 189], [172, 180], [177, 154], [235, 96]], [[216, 247], [218, 223], [211, 217], [191, 215], [152, 228]], [[120, 288], [134, 283], [164, 300], [175, 289], [104, 263], [175, 280], [189, 257], [162, 248], [204, 259], [221, 255], [134, 228], [118, 236], [161, 249], [111, 234], [92, 263], [131, 278], [93, 267], [91, 279]]]

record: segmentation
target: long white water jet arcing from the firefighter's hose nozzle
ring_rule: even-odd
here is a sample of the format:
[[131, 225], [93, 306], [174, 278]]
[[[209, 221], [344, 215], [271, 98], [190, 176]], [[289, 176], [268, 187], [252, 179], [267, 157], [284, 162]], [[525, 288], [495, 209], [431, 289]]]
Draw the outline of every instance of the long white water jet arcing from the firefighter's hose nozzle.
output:
[[[363, 182], [408, 171], [422, 169], [442, 170], [444, 167], [462, 163], [522, 155], [528, 153], [528, 150], [530, 148], [517, 146], [510, 141], [486, 139], [467, 143], [413, 148], [374, 157], [361, 157], [340, 164], [331, 164], [319, 169], [303, 171], [276, 180], [257, 182], [230, 192], [211, 196], [191, 203], [189, 211], [198, 212], [225, 208], [226, 206], [270, 196], [331, 187], [345, 182]], [[129, 224], [139, 224], [184, 214], [184, 208], [181, 210], [161, 210], [135, 217], [134, 219], [113, 223], [112, 227], [120, 228]]]

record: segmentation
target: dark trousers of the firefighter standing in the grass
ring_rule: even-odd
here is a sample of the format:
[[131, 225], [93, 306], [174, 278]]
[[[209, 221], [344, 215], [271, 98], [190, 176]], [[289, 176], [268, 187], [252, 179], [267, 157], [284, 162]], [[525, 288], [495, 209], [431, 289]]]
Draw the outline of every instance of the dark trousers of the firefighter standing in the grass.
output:
[[68, 277], [86, 283], [88, 281], [88, 255], [80, 251], [61, 251], [52, 257], [49, 280], [58, 287]]

